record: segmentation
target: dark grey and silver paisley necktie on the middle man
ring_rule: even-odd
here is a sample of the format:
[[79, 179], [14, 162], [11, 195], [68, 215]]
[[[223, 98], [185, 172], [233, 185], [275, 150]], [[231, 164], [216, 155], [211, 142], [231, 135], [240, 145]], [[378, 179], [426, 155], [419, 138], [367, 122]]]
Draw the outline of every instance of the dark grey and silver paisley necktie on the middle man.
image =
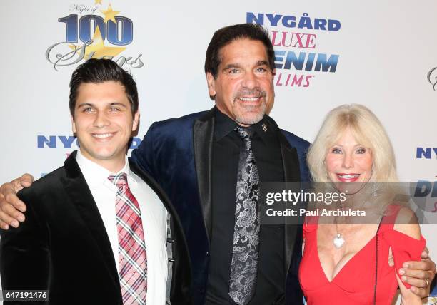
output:
[[259, 254], [258, 167], [251, 148], [251, 134], [236, 128], [243, 139], [238, 162], [235, 224], [229, 296], [236, 304], [246, 305], [255, 294]]

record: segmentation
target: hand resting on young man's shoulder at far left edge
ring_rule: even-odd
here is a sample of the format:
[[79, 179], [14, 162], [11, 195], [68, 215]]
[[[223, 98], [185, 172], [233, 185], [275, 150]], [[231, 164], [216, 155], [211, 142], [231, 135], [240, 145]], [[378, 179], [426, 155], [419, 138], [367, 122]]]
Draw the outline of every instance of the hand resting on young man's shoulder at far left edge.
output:
[[9, 229], [9, 226], [19, 227], [19, 222], [24, 222], [26, 205], [19, 200], [16, 193], [24, 187], [30, 187], [34, 177], [24, 174], [0, 187], [0, 228]]

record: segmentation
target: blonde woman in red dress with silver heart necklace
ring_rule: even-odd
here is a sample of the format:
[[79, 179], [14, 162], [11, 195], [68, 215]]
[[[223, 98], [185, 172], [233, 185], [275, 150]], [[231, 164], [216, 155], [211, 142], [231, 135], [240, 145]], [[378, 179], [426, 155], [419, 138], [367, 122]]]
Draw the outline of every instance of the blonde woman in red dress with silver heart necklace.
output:
[[[374, 182], [398, 181], [386, 131], [362, 105], [342, 105], [328, 113], [308, 152], [308, 165], [314, 181], [332, 185], [368, 190]], [[353, 196], [359, 198], [346, 197]], [[425, 239], [408, 207], [385, 203], [371, 224], [307, 217], [299, 280], [309, 305], [391, 304], [398, 286], [403, 304], [422, 304], [396, 270], [403, 262], [421, 259]], [[361, 209], [371, 209], [366, 205]]]

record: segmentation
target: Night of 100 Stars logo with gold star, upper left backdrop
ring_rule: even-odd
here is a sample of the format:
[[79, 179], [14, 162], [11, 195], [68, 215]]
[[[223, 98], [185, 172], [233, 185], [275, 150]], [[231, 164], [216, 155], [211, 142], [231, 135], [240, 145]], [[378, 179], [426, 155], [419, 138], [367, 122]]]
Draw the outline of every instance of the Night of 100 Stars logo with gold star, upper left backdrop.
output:
[[124, 53], [134, 40], [131, 19], [122, 16], [121, 11], [114, 11], [111, 3], [104, 9], [102, 1], [94, 0], [94, 6], [71, 4], [71, 14], [58, 19], [59, 26], [65, 27], [64, 41], [46, 50], [46, 59], [56, 71], [61, 66], [76, 65], [90, 58], [111, 59], [127, 71], [144, 66], [142, 54]]

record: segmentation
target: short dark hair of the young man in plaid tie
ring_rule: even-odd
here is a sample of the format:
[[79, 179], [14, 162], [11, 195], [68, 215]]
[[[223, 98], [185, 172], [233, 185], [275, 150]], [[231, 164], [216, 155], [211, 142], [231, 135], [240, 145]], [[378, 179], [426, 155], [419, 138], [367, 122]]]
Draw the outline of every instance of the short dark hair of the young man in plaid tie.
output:
[[74, 118], [77, 90], [81, 83], [104, 83], [105, 81], [118, 81], [124, 86], [126, 96], [131, 103], [132, 115], [138, 110], [138, 91], [131, 74], [124, 71], [110, 59], [91, 58], [74, 70], [70, 81], [70, 113]]

